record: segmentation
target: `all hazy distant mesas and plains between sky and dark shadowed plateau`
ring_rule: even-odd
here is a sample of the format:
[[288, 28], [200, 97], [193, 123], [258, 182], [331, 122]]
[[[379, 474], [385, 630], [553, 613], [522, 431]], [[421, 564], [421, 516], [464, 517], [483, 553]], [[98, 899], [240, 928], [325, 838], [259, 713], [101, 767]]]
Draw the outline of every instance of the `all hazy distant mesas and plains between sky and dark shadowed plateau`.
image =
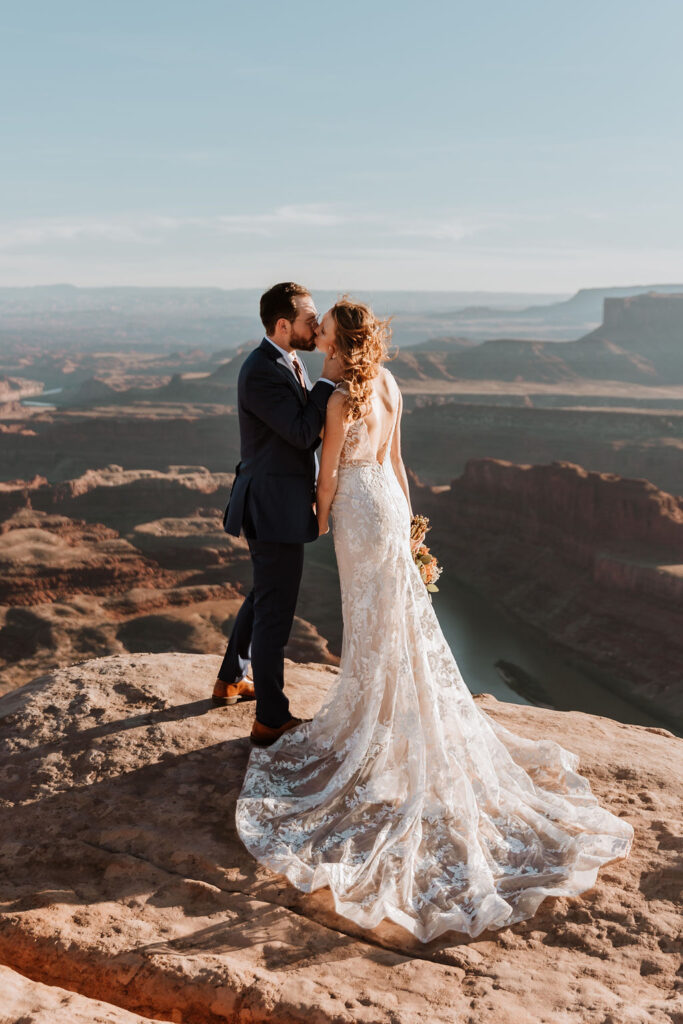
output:
[[[153, 401], [230, 408], [244, 357], [260, 335], [257, 305], [250, 317], [229, 312], [230, 302], [236, 309], [247, 299], [256, 302], [251, 292], [57, 289], [62, 305], [49, 312], [45, 295], [39, 301], [18, 291], [0, 289], [10, 353], [0, 402], [4, 397], [7, 406], [24, 394], [12, 382], [37, 394], [42, 381], [50, 403], [61, 408]], [[683, 285], [583, 289], [561, 302], [524, 308], [502, 295], [494, 295], [490, 306], [465, 302], [471, 296], [456, 292], [378, 296], [394, 313], [392, 369], [414, 387], [528, 381], [578, 392], [587, 381], [683, 384]], [[318, 353], [307, 354], [306, 362], [315, 377]]]

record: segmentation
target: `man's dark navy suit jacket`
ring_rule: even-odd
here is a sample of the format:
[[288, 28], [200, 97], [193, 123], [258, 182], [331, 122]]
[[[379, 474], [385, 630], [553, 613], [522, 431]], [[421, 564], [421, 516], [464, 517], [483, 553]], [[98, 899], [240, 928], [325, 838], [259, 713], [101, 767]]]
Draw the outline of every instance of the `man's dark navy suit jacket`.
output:
[[240, 455], [223, 516], [225, 532], [303, 544], [318, 536], [315, 456], [334, 385], [305, 391], [265, 338], [238, 378]]

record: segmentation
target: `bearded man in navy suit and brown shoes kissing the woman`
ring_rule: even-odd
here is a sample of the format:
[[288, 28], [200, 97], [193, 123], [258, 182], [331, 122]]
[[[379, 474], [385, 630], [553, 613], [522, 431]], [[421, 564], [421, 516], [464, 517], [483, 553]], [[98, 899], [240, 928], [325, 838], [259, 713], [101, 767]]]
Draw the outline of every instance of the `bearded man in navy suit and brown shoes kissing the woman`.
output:
[[[223, 516], [227, 534], [244, 529], [253, 586], [238, 612], [213, 690], [218, 705], [256, 697], [252, 742], [269, 746], [300, 719], [285, 695], [285, 645], [294, 621], [303, 546], [317, 538], [315, 456], [328, 399], [341, 373], [327, 356], [310, 387], [297, 350], [312, 351], [317, 312], [292, 282], [261, 296], [265, 337], [238, 380], [241, 462]], [[251, 662], [253, 684], [247, 678]]]

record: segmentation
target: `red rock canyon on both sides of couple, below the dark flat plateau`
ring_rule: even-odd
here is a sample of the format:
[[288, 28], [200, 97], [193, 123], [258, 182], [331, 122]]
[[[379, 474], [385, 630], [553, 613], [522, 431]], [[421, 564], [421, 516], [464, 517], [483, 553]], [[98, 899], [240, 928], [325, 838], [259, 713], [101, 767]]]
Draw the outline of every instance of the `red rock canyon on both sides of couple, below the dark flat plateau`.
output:
[[[246, 542], [221, 525], [231, 480], [110, 466], [0, 483], [3, 690], [84, 656], [221, 652], [250, 581]], [[681, 728], [682, 499], [571, 464], [492, 459], [470, 460], [450, 486], [414, 477], [412, 489], [447, 573]], [[307, 550], [298, 613], [289, 655], [336, 664], [329, 538]]]

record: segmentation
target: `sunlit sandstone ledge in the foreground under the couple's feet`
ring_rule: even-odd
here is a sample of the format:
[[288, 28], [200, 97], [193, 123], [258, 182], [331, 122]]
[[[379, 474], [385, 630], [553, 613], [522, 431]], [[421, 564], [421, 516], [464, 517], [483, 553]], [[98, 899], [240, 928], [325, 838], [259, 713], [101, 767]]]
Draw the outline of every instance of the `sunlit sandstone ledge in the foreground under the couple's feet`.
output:
[[[634, 824], [634, 849], [529, 922], [423, 946], [393, 926], [364, 933], [326, 891], [299, 893], [242, 847], [253, 705], [213, 708], [218, 665], [99, 658], [0, 701], [2, 1024], [683, 1020], [681, 740], [477, 698], [575, 751], [601, 802]], [[315, 712], [335, 672], [288, 665], [295, 713]]]

